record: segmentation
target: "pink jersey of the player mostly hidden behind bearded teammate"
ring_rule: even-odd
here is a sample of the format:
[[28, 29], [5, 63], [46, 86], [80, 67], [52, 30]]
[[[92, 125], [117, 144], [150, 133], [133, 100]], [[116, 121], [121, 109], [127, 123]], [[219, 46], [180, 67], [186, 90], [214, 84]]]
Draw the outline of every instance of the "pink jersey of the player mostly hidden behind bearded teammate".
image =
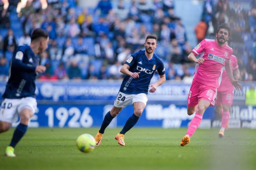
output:
[[[231, 56], [230, 66], [232, 70], [235, 70], [238, 68], [237, 58], [234, 55]], [[228, 78], [228, 74], [227, 74], [227, 71], [225, 70], [225, 67], [223, 67], [222, 69], [223, 69], [223, 73], [222, 73], [220, 87], [218, 88], [218, 92], [230, 92], [230, 91], [232, 92], [234, 90], [234, 86], [231, 84]]]

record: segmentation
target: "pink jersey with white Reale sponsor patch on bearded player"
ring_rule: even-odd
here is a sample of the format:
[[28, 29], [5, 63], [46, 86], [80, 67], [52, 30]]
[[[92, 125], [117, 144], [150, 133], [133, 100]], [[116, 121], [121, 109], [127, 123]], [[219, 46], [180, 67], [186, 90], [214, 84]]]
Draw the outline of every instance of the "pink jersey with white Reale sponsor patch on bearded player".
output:
[[193, 50], [193, 53], [204, 58], [204, 63], [195, 66], [194, 80], [202, 84], [218, 88], [221, 82], [222, 68], [231, 58], [233, 49], [225, 45], [220, 47], [214, 39], [202, 40]]

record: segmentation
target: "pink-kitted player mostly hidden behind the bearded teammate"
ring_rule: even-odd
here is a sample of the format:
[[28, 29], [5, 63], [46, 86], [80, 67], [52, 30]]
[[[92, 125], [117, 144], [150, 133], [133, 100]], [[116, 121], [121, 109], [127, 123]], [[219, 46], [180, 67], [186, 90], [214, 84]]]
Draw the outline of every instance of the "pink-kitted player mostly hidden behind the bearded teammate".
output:
[[[240, 71], [237, 64], [237, 58], [232, 55], [230, 60], [230, 66], [233, 70], [234, 79], [238, 80]], [[225, 67], [223, 67], [223, 73], [221, 78], [220, 87], [216, 97], [216, 112], [221, 115], [221, 129], [218, 134], [219, 138], [223, 138], [224, 131], [228, 126], [230, 119], [230, 106], [233, 104], [234, 86], [230, 82]]]

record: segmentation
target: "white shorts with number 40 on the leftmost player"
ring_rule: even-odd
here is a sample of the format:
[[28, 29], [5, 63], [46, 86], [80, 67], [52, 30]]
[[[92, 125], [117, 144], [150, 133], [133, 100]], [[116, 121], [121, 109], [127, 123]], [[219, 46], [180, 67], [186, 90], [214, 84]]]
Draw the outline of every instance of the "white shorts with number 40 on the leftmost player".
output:
[[0, 121], [9, 123], [18, 121], [19, 113], [25, 108], [30, 109], [35, 114], [37, 108], [36, 99], [33, 97], [4, 99], [0, 110]]

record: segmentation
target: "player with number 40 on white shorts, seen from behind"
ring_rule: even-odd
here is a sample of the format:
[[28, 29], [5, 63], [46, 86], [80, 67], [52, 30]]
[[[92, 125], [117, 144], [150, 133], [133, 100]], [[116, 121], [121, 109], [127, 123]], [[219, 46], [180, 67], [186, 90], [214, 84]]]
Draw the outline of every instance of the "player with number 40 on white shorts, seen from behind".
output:
[[20, 117], [20, 123], [14, 131], [5, 155], [15, 157], [14, 148], [28, 129], [29, 119], [35, 114], [35, 79], [37, 73], [45, 72], [45, 66], [38, 65], [36, 56], [47, 48], [49, 36], [42, 29], [35, 29], [31, 34], [29, 46], [19, 46], [13, 53], [9, 70], [9, 80], [3, 93], [0, 110], [0, 133], [10, 129]]

